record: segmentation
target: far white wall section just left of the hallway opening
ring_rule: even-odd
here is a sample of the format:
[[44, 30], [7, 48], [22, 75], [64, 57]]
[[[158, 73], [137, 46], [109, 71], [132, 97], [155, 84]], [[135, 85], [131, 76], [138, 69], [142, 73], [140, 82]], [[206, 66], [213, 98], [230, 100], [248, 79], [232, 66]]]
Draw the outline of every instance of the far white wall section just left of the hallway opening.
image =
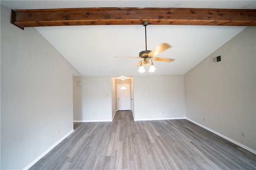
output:
[[111, 83], [110, 76], [73, 78], [74, 121], [112, 121]]

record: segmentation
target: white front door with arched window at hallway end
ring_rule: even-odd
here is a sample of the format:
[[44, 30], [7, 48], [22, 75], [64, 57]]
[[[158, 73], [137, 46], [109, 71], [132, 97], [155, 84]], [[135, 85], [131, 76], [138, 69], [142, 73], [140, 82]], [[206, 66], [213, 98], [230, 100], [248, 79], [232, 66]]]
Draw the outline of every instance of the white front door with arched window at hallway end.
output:
[[118, 110], [130, 110], [130, 84], [117, 84], [117, 108]]

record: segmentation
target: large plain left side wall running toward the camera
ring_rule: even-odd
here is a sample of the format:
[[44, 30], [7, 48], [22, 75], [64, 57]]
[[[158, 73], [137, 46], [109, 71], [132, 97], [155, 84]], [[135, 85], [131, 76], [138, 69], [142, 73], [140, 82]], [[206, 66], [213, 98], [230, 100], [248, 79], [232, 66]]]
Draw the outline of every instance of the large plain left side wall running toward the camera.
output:
[[36, 29], [10, 24], [1, 5], [1, 169], [25, 168], [73, 131], [73, 73]]

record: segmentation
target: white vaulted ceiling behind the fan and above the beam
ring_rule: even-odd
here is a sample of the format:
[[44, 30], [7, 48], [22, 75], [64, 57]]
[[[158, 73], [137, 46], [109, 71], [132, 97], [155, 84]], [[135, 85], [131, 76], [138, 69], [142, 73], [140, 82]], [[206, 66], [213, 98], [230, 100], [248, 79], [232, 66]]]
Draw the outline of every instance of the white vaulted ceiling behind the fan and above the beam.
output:
[[[91, 1], [2, 1], [12, 9], [47, 8], [231, 8], [256, 9], [256, 1], [192, 1], [192, 0], [91, 0]], [[142, 25], [85, 25], [36, 27], [83, 76], [134, 76], [185, 74], [242, 31], [242, 26], [148, 25], [147, 49], [161, 43], [172, 45], [157, 57], [176, 59], [172, 63], [155, 61], [156, 72], [139, 73], [134, 66], [145, 50], [145, 32]], [[26, 28], [25, 28], [26, 29]], [[221, 54], [220, 54], [221, 55]]]

